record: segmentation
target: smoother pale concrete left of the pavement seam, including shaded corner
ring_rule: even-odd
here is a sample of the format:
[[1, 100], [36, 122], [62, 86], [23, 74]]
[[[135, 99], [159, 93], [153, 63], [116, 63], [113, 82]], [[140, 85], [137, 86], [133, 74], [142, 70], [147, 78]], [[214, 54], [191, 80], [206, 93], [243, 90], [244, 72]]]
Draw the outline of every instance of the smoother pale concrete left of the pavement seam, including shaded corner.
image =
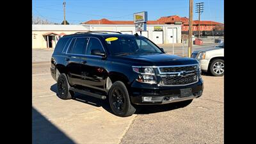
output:
[[92, 97], [59, 99], [48, 64], [33, 66], [37, 72], [32, 75], [33, 143], [120, 143], [136, 115], [115, 116], [108, 102]]

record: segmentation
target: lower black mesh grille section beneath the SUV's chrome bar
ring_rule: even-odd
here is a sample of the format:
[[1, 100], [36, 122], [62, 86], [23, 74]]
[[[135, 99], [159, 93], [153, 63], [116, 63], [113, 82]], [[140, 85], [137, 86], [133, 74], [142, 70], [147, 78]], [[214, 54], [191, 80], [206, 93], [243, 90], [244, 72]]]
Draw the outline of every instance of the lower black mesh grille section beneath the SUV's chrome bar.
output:
[[164, 85], [189, 84], [198, 81], [196, 74], [190, 76], [165, 76], [162, 77]]

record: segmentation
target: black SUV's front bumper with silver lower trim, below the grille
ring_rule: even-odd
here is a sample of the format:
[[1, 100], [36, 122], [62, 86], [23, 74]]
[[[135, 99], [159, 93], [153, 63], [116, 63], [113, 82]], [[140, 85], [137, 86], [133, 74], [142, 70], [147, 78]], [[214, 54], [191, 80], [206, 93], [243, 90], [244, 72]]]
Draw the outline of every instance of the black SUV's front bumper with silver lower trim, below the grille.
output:
[[[180, 90], [191, 88], [192, 94], [188, 97], [182, 97]], [[195, 99], [202, 95], [204, 84], [202, 79], [197, 83], [186, 86], [159, 86], [157, 84], [141, 84], [134, 82], [131, 87], [131, 102], [137, 105], [148, 104], [168, 104], [172, 102], [180, 102], [189, 99]], [[144, 101], [143, 97], [152, 97], [150, 101]]]

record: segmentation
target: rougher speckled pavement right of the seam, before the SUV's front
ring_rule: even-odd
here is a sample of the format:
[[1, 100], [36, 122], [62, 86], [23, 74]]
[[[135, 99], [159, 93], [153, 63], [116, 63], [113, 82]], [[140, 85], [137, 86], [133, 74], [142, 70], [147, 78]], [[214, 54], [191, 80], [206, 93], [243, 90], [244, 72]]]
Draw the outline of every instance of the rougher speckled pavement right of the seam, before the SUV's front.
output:
[[224, 77], [202, 77], [202, 97], [185, 108], [140, 109], [121, 143], [224, 143]]

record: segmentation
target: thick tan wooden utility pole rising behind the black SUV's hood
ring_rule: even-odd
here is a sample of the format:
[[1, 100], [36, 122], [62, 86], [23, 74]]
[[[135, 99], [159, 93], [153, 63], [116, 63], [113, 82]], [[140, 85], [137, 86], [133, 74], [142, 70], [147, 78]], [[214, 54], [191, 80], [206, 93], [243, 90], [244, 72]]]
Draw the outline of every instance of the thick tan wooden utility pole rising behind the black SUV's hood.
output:
[[192, 51], [192, 33], [193, 33], [193, 0], [189, 0], [189, 34], [188, 34], [188, 57]]

